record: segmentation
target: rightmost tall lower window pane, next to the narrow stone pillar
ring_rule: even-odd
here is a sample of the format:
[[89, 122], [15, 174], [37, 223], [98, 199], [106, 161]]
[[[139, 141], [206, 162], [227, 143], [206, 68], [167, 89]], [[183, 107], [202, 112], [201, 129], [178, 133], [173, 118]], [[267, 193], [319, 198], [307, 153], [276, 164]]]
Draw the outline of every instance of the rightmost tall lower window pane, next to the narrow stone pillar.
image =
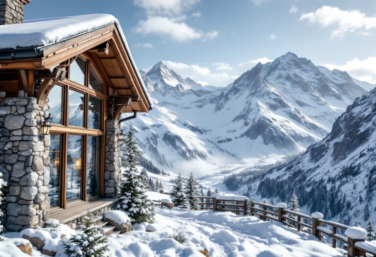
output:
[[100, 137], [88, 137], [88, 162], [86, 195], [91, 198], [99, 194]]

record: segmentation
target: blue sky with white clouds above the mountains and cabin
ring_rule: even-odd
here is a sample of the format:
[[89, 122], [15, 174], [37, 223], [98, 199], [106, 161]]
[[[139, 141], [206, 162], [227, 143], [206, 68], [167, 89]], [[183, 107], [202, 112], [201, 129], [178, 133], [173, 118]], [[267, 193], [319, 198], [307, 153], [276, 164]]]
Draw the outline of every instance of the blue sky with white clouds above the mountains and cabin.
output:
[[376, 0], [31, 0], [25, 20], [108, 13], [139, 69], [226, 86], [294, 52], [376, 84]]

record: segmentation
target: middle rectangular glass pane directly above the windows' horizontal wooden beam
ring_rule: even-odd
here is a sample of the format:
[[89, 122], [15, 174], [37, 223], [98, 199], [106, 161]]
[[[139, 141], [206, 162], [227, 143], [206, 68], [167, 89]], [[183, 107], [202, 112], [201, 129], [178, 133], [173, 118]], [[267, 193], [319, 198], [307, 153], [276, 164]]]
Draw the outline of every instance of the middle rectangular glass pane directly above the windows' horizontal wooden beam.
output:
[[84, 126], [85, 96], [74, 90], [69, 90], [68, 125]]

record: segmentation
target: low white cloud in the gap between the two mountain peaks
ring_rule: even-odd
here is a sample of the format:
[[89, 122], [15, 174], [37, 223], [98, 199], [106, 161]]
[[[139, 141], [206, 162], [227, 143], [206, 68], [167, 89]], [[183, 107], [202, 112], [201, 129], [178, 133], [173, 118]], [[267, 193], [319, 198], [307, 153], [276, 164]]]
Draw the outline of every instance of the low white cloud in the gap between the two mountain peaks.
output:
[[189, 65], [185, 63], [177, 63], [172, 61], [162, 61], [169, 69], [174, 70], [183, 78], [190, 77], [194, 81], [200, 81], [200, 84], [213, 85], [217, 87], [225, 87], [233, 82], [238, 76], [228, 74], [227, 72], [211, 72], [207, 67], [199, 65]]

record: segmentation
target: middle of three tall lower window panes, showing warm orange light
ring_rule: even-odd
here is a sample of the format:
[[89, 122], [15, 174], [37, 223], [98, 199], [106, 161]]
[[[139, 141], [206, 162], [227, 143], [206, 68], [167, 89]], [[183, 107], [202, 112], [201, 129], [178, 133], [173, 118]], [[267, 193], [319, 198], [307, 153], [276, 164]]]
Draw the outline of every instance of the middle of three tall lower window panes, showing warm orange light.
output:
[[68, 135], [67, 200], [81, 199], [82, 136]]

